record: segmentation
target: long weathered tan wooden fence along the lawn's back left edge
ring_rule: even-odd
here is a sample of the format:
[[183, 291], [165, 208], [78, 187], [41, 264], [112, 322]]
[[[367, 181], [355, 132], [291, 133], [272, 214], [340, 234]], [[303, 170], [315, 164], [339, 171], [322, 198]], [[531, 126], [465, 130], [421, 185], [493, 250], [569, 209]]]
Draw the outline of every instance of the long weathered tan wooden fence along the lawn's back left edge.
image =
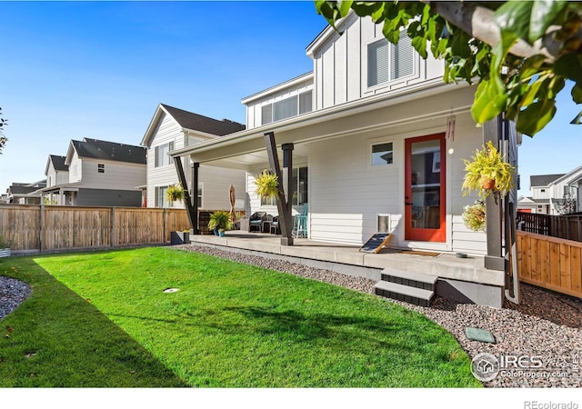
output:
[[0, 235], [16, 251], [166, 244], [189, 228], [185, 209], [0, 205]]

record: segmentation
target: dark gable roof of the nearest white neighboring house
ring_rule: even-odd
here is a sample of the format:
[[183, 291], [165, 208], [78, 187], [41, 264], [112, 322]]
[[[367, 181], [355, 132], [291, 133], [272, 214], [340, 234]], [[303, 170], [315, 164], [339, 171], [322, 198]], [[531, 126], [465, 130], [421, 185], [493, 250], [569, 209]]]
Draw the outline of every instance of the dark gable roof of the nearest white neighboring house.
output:
[[149, 145], [150, 139], [154, 135], [154, 130], [162, 114], [170, 115], [183, 130], [199, 132], [208, 135], [224, 136], [243, 131], [246, 125], [239, 124], [229, 119], [221, 121], [208, 116], [195, 114], [174, 106], [160, 104], [156, 108], [156, 113], [146, 130], [146, 135], [142, 139], [142, 146]]

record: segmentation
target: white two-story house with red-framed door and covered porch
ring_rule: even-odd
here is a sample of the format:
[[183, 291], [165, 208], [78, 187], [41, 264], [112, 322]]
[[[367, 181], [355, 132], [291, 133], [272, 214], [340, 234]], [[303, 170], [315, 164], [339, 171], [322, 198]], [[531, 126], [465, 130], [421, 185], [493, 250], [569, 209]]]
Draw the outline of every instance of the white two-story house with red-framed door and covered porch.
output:
[[[394, 247], [487, 255], [487, 234], [462, 220], [477, 199], [461, 194], [463, 159], [506, 139], [517, 161], [515, 126], [497, 118], [503, 138], [497, 125], [477, 127], [476, 87], [444, 84], [443, 63], [421, 58], [406, 35], [391, 45], [381, 25], [353, 13], [338, 30], [307, 46], [313, 72], [242, 100], [246, 130], [171, 155], [256, 175], [272, 168], [274, 140], [283, 167], [293, 164], [286, 195], [295, 212], [307, 204], [311, 241], [361, 245], [384, 231]], [[251, 212], [280, 209], [253, 195], [252, 177], [246, 188]]]

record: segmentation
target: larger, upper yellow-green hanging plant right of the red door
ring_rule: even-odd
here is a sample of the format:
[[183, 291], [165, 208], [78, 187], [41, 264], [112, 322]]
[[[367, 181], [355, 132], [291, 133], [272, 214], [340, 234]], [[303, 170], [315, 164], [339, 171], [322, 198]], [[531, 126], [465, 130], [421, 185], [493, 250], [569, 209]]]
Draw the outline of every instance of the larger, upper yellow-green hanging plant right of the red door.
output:
[[505, 196], [515, 187], [516, 167], [505, 160], [491, 141], [483, 149], [475, 151], [470, 161], [464, 162], [467, 172], [462, 187], [464, 196], [473, 190], [481, 199], [490, 194]]

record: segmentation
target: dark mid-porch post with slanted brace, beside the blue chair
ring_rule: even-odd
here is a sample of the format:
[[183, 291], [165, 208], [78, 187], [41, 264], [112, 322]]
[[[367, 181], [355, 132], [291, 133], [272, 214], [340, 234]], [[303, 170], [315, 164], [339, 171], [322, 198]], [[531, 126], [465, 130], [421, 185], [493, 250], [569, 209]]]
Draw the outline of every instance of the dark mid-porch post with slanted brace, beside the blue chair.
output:
[[[279, 158], [276, 153], [275, 133], [267, 132], [265, 134], [266, 155], [269, 158], [271, 170], [275, 172], [279, 181], [279, 194], [276, 200], [276, 207], [279, 212], [279, 225], [281, 227], [281, 245], [293, 245], [293, 222], [291, 216], [291, 200], [289, 197], [289, 186], [291, 185], [291, 176], [293, 169], [293, 144], [283, 145], [283, 165], [284, 172], [281, 172]], [[287, 193], [286, 193], [287, 192]]]

